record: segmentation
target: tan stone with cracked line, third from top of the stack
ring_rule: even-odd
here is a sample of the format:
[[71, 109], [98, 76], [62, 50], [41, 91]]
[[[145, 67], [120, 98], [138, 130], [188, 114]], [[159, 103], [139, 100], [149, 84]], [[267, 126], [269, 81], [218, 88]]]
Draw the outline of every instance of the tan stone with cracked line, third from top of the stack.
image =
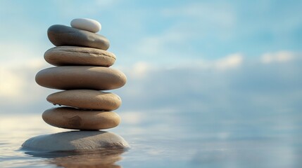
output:
[[91, 65], [109, 67], [115, 62], [115, 55], [106, 50], [75, 46], [59, 46], [47, 50], [44, 59], [55, 66]]

